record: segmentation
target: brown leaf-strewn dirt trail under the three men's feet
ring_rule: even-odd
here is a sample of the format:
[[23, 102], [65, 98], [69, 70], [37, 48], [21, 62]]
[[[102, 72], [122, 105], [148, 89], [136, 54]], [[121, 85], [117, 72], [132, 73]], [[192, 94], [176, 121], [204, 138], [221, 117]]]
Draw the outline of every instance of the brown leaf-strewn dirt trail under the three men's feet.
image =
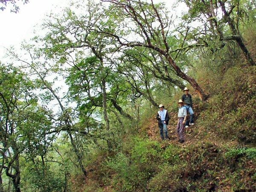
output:
[[[196, 113], [195, 113], [196, 115]], [[198, 143], [207, 143], [211, 142], [216, 146], [238, 146], [239, 143], [236, 140], [224, 140], [219, 137], [217, 133], [214, 133], [210, 130], [204, 130], [197, 125], [197, 121], [195, 121], [195, 125], [189, 126], [185, 129], [185, 142], [179, 143], [177, 136], [177, 113], [170, 112], [169, 113], [170, 120], [168, 128], [169, 140], [162, 140], [160, 137], [160, 131], [158, 128], [158, 123], [156, 119], [156, 115], [151, 116], [148, 119], [147, 125], [145, 125], [144, 129], [146, 129], [148, 137], [152, 140], [156, 140], [161, 143], [161, 146], [164, 147], [166, 144], [179, 145], [182, 148], [186, 148], [188, 145], [195, 145]]]

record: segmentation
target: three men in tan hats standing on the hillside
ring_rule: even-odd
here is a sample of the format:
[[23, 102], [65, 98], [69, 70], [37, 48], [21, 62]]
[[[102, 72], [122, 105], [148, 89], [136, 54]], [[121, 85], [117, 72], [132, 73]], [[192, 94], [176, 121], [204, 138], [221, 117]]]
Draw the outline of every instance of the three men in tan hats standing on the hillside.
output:
[[[193, 103], [192, 103], [192, 96], [189, 94], [189, 89], [187, 87], [184, 88], [184, 94], [181, 99], [178, 101], [179, 111], [178, 111], [178, 122], [177, 122], [177, 135], [178, 135], [178, 142], [183, 143], [184, 140], [184, 131], [185, 128], [188, 128], [189, 125], [194, 124], [194, 112], [193, 112]], [[162, 140], [166, 139], [169, 140], [168, 136], [168, 129], [167, 125], [169, 123], [169, 114], [168, 111], [164, 108], [162, 104], [159, 105], [160, 111], [157, 112], [157, 120], [158, 120], [158, 127], [160, 130], [160, 135]], [[188, 121], [187, 114], [190, 114], [190, 120]], [[165, 133], [165, 137], [163, 134]]]

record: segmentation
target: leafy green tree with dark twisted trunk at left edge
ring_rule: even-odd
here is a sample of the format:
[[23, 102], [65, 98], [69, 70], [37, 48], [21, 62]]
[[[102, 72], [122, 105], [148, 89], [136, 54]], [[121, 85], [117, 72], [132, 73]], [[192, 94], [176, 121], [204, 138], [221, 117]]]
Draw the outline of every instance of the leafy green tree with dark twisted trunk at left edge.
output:
[[0, 174], [5, 170], [19, 192], [20, 155], [33, 158], [47, 153], [52, 137], [45, 133], [51, 121], [49, 113], [37, 105], [35, 85], [25, 73], [12, 65], [1, 66], [0, 72]]

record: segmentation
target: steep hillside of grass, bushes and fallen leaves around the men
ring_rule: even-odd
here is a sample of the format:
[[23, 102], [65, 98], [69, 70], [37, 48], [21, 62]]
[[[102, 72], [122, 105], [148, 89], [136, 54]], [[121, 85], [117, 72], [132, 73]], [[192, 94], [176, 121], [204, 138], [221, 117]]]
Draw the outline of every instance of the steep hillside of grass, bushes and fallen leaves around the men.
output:
[[235, 66], [221, 76], [201, 82], [212, 93], [207, 102], [192, 92], [196, 124], [185, 143], [177, 141], [178, 92], [166, 107], [170, 140], [160, 139], [156, 109], [118, 151], [96, 154], [86, 180], [72, 179], [74, 191], [79, 183], [106, 192], [256, 191], [256, 67]]

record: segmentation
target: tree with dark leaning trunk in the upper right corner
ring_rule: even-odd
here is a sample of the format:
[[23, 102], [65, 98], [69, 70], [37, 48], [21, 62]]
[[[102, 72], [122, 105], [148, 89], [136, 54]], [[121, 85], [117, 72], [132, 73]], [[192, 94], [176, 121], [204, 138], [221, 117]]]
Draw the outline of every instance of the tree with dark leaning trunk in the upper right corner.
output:
[[[255, 61], [247, 49], [239, 29], [240, 20], [243, 19], [242, 17], [244, 15], [242, 14], [243, 9], [241, 8], [242, 3], [240, 0], [195, 0], [185, 2], [187, 6], [189, 6], [189, 16], [197, 18], [197, 21], [202, 24], [202, 28], [197, 30], [197, 34], [195, 34], [196, 40], [200, 39], [204, 41], [206, 46], [209, 46], [211, 42], [218, 39], [221, 44], [215, 44], [212, 50], [218, 50], [227, 45], [231, 53], [233, 51], [227, 42], [236, 41], [248, 64], [255, 65]], [[185, 17], [185, 19], [187, 18], [188, 17]], [[225, 32], [227, 28], [226, 23], [230, 29], [229, 33]], [[212, 35], [212, 40], [209, 39], [209, 35]]]

